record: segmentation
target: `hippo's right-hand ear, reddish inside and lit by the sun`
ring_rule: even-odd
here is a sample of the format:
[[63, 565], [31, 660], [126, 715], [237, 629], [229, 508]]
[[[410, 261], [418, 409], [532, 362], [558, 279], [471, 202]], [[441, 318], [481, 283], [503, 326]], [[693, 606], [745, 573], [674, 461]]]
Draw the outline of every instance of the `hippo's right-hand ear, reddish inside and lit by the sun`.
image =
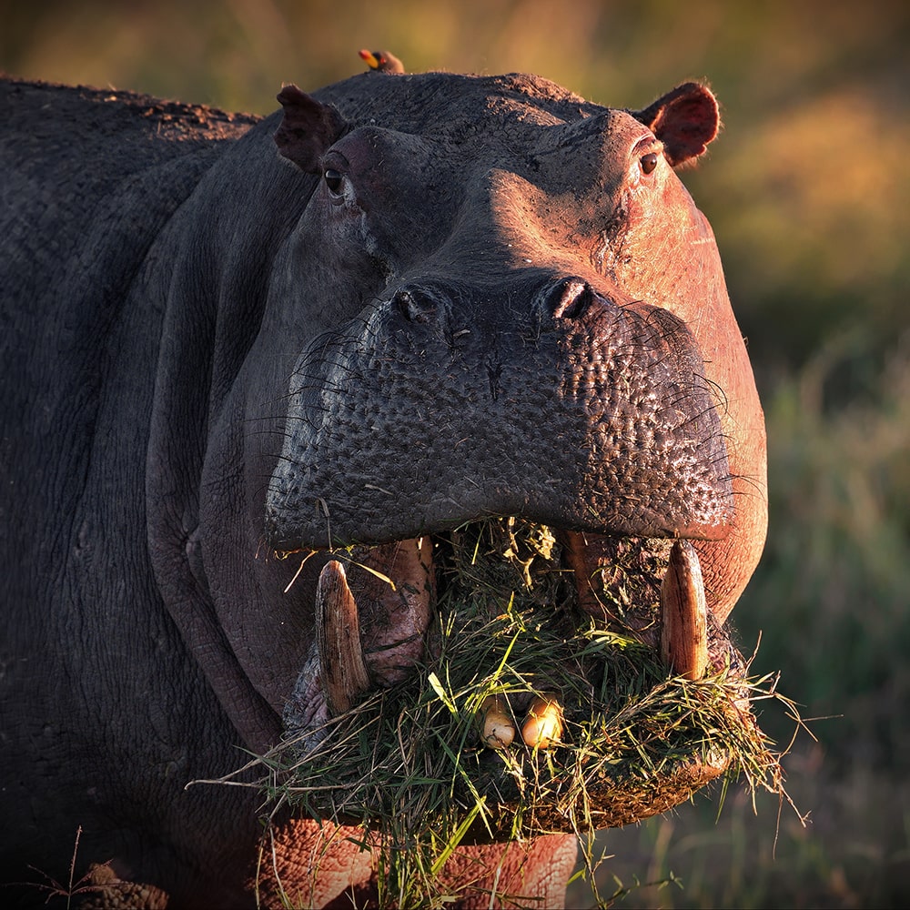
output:
[[697, 82], [677, 86], [632, 116], [651, 127], [672, 167], [702, 155], [721, 125], [717, 100]]

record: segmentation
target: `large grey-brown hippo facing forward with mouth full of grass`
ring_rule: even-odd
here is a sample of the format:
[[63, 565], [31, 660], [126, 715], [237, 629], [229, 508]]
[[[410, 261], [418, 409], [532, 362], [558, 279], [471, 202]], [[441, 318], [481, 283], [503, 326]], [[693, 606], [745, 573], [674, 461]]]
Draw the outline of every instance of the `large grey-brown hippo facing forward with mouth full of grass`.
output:
[[[261, 119], [3, 82], [0, 867], [23, 905], [76, 837], [77, 875], [110, 861], [170, 907], [375, 901], [362, 833], [288, 814], [264, 842], [255, 789], [187, 784], [407, 684], [446, 531], [551, 527], [602, 622], [617, 541], [684, 545], [715, 627], [761, 555], [762, 409], [676, 174], [717, 135], [710, 89], [614, 109], [399, 68], [284, 86]], [[553, 834], [441, 875], [461, 906], [559, 906], [575, 861]]]

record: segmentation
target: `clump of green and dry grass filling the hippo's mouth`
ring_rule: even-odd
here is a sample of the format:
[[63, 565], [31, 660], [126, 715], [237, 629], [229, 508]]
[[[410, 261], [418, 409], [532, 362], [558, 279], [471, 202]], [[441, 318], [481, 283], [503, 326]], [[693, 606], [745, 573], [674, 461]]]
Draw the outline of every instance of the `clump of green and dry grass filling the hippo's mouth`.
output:
[[[580, 628], [546, 528], [478, 522], [447, 546], [435, 642], [411, 678], [260, 759], [275, 804], [383, 835], [386, 903], [441, 899], [437, 875], [461, 843], [572, 832], [592, 849], [586, 834], [661, 813], [724, 773], [783, 792], [749, 710], [775, 696], [774, 678], [723, 662], [689, 682], [631, 635]], [[520, 726], [545, 693], [559, 693], [561, 743], [481, 745], [488, 696]]]

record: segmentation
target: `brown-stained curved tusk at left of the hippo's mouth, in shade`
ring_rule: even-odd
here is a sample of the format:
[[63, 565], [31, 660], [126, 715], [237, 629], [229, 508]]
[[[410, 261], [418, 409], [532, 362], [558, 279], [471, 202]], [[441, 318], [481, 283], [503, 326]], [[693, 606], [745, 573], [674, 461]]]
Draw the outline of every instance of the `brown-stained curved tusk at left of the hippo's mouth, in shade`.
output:
[[369, 689], [360, 645], [357, 602], [339, 561], [327, 562], [316, 588], [316, 642], [319, 676], [329, 713], [343, 714]]

